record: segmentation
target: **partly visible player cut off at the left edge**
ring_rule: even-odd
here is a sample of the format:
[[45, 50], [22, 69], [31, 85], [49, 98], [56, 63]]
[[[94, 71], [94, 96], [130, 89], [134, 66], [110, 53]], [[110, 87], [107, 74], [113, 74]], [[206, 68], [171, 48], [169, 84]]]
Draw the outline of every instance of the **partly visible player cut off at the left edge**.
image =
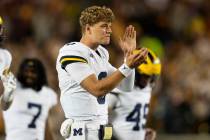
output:
[[12, 56], [9, 51], [2, 48], [3, 38], [3, 19], [0, 16], [0, 102], [1, 108], [7, 110], [13, 99], [16, 79], [9, 71]]

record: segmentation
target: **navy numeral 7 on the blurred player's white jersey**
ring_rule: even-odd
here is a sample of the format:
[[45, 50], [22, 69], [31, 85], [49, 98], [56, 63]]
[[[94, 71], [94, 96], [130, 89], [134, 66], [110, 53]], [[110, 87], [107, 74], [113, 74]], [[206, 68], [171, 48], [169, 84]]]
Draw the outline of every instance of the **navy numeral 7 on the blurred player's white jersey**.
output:
[[28, 128], [36, 128], [36, 120], [39, 118], [39, 116], [42, 112], [42, 106], [40, 104], [36, 104], [36, 103], [28, 103], [28, 108], [37, 110], [37, 113], [34, 114], [31, 122], [28, 124]]

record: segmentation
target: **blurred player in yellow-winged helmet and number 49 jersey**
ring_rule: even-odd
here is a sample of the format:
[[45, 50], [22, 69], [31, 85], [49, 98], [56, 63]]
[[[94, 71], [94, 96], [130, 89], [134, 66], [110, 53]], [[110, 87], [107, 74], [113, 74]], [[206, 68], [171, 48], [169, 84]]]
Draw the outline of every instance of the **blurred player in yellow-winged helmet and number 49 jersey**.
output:
[[131, 92], [115, 89], [107, 95], [114, 140], [155, 139], [155, 131], [145, 125], [152, 88], [160, 72], [160, 60], [149, 50], [146, 62], [136, 68], [134, 89]]

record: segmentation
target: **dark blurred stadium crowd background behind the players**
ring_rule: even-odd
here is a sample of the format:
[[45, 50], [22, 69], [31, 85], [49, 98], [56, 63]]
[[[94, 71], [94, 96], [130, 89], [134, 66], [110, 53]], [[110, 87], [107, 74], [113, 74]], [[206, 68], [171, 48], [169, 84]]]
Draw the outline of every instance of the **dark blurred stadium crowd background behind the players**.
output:
[[[210, 133], [210, 1], [209, 0], [0, 0], [6, 28], [5, 47], [13, 55], [12, 71], [24, 57], [41, 59], [50, 86], [59, 95], [55, 61], [59, 48], [80, 38], [78, 18], [91, 5], [113, 9], [111, 63], [119, 66], [117, 47], [126, 25], [138, 32], [139, 46], [153, 49], [163, 71], [154, 91], [148, 126], [158, 140], [209, 139]], [[58, 113], [57, 113], [58, 112]], [[54, 134], [63, 112], [53, 117]], [[1, 135], [2, 131], [1, 120]]]

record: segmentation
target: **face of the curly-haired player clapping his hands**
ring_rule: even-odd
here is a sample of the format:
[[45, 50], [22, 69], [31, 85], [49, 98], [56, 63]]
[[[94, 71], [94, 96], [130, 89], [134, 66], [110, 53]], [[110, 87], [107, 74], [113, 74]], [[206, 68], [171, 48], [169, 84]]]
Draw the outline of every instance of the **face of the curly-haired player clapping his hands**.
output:
[[91, 36], [94, 42], [102, 45], [108, 45], [110, 43], [112, 33], [111, 27], [111, 22], [98, 22], [91, 26]]

